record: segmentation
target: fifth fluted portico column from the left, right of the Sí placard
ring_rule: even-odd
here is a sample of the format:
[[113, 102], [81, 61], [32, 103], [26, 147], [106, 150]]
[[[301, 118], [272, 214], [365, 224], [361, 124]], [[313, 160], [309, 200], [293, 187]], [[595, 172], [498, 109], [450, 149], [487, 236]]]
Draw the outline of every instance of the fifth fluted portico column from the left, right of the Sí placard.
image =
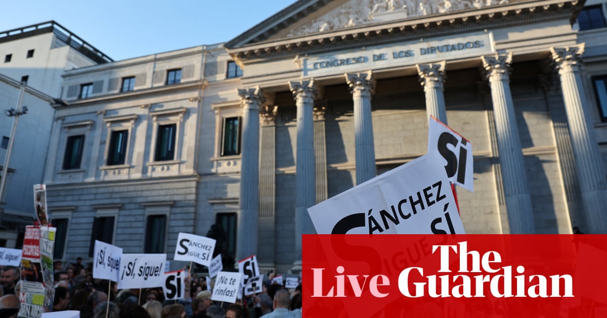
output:
[[501, 176], [511, 234], [535, 233], [531, 195], [518, 134], [517, 117], [510, 93], [510, 63], [508, 55], [482, 56], [483, 67], [491, 87], [493, 116], [500, 153]]

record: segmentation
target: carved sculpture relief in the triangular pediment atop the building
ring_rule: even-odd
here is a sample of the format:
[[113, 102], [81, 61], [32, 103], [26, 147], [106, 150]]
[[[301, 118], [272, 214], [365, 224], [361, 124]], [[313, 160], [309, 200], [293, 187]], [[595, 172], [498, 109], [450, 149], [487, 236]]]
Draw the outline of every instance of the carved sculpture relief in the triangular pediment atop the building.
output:
[[334, 31], [356, 25], [381, 22], [382, 15], [398, 13], [399, 18], [436, 15], [459, 10], [507, 4], [509, 0], [353, 0], [319, 19], [296, 27], [287, 36]]

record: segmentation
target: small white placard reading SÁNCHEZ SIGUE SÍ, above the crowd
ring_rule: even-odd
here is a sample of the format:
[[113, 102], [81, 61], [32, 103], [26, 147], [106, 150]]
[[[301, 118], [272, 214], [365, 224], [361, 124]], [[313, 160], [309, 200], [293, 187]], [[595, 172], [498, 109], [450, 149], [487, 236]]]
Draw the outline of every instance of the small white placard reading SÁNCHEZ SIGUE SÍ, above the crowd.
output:
[[200, 265], [211, 265], [215, 240], [205, 236], [179, 233], [174, 260], [186, 260]]

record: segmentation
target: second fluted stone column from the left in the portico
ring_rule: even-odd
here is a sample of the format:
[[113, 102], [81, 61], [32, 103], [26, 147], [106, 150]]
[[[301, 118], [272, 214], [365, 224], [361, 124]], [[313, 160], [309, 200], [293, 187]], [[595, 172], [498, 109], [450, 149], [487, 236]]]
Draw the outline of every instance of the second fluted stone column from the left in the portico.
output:
[[301, 259], [302, 234], [313, 234], [308, 208], [316, 204], [313, 108], [317, 90], [313, 79], [289, 82], [297, 105], [297, 156], [295, 174], [295, 257]]

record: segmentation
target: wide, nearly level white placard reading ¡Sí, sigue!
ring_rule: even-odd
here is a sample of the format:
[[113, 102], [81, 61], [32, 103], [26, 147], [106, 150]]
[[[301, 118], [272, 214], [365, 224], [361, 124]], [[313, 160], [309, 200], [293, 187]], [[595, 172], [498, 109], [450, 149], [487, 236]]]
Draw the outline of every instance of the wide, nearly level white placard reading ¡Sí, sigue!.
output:
[[166, 254], [122, 254], [118, 289], [164, 285]]

